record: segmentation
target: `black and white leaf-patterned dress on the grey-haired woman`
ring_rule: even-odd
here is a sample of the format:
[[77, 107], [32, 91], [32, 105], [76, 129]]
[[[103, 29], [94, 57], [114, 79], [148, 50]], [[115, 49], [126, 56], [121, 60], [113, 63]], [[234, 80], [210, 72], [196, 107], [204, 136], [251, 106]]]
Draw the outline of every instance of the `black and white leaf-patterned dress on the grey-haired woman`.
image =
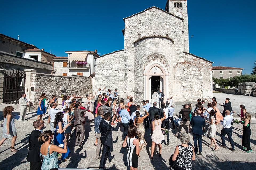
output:
[[[192, 160], [191, 160], [192, 156], [193, 156], [192, 146], [184, 147], [182, 145], [179, 145], [179, 155], [177, 156], [176, 166], [186, 170], [192, 170]], [[178, 167], [176, 169], [179, 169]]]

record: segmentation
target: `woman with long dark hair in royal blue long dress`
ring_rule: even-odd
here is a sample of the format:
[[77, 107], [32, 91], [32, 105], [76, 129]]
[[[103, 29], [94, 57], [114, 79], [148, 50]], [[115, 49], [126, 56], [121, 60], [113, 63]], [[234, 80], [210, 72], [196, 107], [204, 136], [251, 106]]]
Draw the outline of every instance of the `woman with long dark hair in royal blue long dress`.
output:
[[[53, 144], [59, 146], [59, 144], [64, 144], [63, 140], [65, 139], [64, 131], [67, 129], [68, 126], [71, 125], [71, 123], [68, 123], [65, 128], [63, 124], [63, 118], [64, 114], [63, 112], [58, 112], [55, 116], [55, 121], [54, 121], [54, 128], [56, 128], [54, 132], [54, 139], [53, 139]], [[67, 147], [67, 152], [62, 154], [61, 160], [64, 162], [68, 160], [68, 156], [70, 154], [69, 148]]]

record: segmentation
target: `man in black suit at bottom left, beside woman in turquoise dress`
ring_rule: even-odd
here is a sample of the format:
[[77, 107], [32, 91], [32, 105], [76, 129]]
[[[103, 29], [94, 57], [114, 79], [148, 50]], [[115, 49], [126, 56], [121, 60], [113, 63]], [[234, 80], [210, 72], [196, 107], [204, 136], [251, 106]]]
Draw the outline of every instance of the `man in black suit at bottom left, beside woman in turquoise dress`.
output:
[[30, 162], [30, 170], [41, 170], [42, 161], [40, 158], [40, 147], [43, 142], [38, 141], [38, 138], [43, 131], [41, 130], [45, 123], [43, 120], [33, 122], [35, 130], [29, 135], [29, 153], [27, 154], [27, 162]]

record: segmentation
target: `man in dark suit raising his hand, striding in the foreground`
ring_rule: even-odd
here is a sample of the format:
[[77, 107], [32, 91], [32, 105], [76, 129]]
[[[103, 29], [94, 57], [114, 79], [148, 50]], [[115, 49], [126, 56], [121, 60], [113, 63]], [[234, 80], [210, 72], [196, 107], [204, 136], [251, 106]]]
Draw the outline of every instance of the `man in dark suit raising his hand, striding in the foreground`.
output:
[[114, 159], [114, 156], [111, 156], [111, 152], [113, 151], [113, 138], [112, 138], [112, 131], [118, 131], [118, 128], [121, 125], [121, 117], [118, 118], [117, 126], [114, 128], [110, 123], [111, 113], [105, 113], [104, 119], [101, 120], [99, 124], [99, 130], [101, 131], [101, 142], [102, 142], [102, 155], [101, 155], [101, 162], [99, 163], [99, 169], [105, 168], [105, 164], [107, 158], [109, 162]]

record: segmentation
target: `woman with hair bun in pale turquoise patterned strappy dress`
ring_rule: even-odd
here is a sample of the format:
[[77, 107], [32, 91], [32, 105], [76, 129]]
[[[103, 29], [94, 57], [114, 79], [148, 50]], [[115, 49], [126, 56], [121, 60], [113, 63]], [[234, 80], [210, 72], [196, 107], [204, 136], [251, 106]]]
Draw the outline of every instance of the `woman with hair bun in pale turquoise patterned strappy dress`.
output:
[[61, 148], [57, 145], [51, 145], [51, 140], [53, 139], [53, 133], [51, 130], [44, 131], [40, 137], [39, 141], [44, 142], [40, 148], [40, 156], [43, 157], [42, 170], [50, 170], [52, 168], [59, 168], [58, 164], [58, 152], [67, 153], [67, 140], [64, 139], [64, 147]]

